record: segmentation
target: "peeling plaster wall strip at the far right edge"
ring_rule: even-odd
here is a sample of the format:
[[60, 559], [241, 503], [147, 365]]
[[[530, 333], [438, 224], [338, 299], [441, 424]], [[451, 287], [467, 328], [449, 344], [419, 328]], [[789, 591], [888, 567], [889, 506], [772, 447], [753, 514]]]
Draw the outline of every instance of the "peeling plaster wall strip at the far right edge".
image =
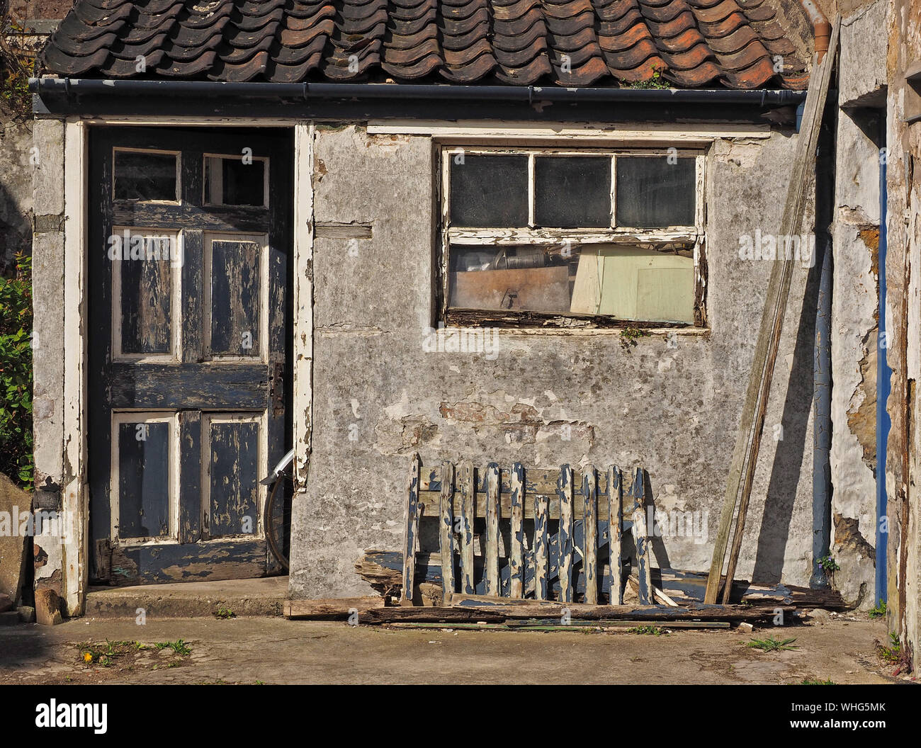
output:
[[[887, 98], [887, 214], [888, 256], [886, 327], [892, 368], [892, 393], [887, 410], [892, 417], [886, 454], [889, 494], [889, 555], [887, 618], [899, 633], [903, 649], [921, 665], [921, 123], [906, 123], [906, 111], [917, 105], [917, 84], [905, 73], [921, 62], [921, 8], [914, 0], [893, 0], [887, 18], [889, 52]], [[917, 111], [917, 110], [915, 110]]]

